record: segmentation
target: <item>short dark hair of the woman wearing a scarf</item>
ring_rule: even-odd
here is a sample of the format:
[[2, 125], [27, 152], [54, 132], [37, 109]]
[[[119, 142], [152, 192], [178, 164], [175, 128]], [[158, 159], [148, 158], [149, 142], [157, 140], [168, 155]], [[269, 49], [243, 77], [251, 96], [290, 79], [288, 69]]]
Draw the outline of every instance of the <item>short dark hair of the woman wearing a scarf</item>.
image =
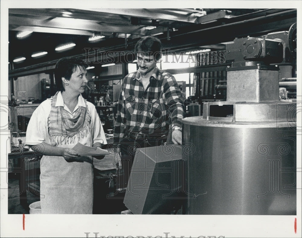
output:
[[56, 63], [55, 67], [55, 81], [56, 88], [61, 92], [65, 91], [63, 87], [62, 77], [70, 80], [72, 73], [76, 71], [76, 67], [87, 68], [88, 64], [86, 64], [81, 58], [62, 58]]

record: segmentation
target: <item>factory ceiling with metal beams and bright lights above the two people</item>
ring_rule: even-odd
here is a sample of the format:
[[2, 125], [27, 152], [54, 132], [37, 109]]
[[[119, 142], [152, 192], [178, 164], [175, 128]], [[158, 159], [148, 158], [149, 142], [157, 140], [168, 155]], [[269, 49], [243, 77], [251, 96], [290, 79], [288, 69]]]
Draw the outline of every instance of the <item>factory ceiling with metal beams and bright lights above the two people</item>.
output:
[[[65, 56], [85, 57], [85, 49], [131, 51], [137, 39], [153, 35], [172, 50], [224, 49], [234, 37], [288, 30], [296, 9], [61, 9], [10, 8], [9, 76], [36, 68], [53, 68]], [[18, 38], [23, 31], [31, 34]], [[103, 36], [95, 41], [92, 36]], [[72, 48], [56, 47], [74, 43]], [[47, 54], [32, 57], [32, 54]], [[13, 60], [24, 57], [23, 61]]]

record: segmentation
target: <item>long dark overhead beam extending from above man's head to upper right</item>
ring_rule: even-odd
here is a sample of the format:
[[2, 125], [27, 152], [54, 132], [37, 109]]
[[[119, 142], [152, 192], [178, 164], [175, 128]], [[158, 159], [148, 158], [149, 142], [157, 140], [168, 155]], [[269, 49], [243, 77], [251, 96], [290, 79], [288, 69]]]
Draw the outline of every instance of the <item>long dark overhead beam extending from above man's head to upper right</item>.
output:
[[[162, 45], [165, 48], [204, 46], [233, 41], [236, 37], [260, 36], [274, 31], [289, 30], [292, 24], [297, 22], [297, 11], [288, 10], [255, 19], [243, 20], [230, 24], [224, 24], [207, 29], [194, 30], [190, 33], [186, 29], [176, 31], [171, 40], [162, 36]], [[207, 37], [201, 37], [207, 36]], [[175, 44], [176, 43], [176, 44]]]

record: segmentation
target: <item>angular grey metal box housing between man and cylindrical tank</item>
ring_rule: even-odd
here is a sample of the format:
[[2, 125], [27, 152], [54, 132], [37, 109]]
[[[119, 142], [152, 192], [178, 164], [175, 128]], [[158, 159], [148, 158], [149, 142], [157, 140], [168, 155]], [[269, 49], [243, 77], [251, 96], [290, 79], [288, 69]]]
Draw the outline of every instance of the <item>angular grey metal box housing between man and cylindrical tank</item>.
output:
[[125, 206], [133, 214], [178, 212], [186, 199], [182, 190], [183, 152], [183, 148], [175, 144], [138, 150], [124, 198]]

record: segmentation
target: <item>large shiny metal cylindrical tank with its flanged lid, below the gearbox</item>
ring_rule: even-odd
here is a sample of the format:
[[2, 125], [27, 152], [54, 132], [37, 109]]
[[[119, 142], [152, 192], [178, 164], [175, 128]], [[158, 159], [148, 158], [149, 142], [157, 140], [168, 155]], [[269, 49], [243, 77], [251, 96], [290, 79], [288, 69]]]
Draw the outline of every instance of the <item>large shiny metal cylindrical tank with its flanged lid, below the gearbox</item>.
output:
[[295, 112], [295, 103], [225, 101], [183, 119], [194, 147], [186, 214], [296, 215]]

